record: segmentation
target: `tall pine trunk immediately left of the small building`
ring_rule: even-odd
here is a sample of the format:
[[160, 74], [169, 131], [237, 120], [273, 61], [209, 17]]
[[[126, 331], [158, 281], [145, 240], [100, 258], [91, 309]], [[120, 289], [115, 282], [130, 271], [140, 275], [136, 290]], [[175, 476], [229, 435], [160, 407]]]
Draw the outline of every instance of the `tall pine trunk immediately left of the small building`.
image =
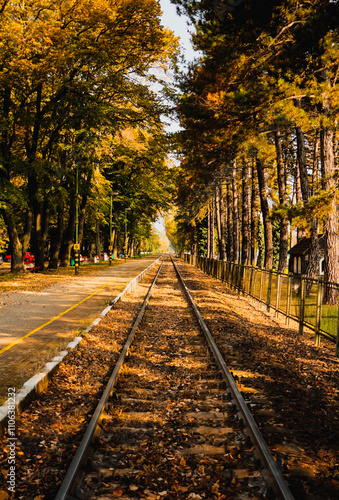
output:
[[279, 190], [279, 204], [283, 208], [280, 220], [280, 242], [279, 242], [279, 264], [278, 271], [284, 273], [287, 265], [288, 255], [288, 217], [287, 212], [287, 196], [286, 196], [286, 172], [284, 159], [281, 148], [281, 135], [280, 130], [274, 133], [275, 148], [277, 154], [277, 177], [278, 177], [278, 190]]

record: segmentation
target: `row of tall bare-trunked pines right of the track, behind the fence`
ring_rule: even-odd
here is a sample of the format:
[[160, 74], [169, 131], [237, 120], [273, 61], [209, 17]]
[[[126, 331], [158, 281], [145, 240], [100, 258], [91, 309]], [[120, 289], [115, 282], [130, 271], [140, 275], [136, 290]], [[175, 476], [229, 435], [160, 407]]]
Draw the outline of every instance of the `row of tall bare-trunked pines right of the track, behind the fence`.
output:
[[323, 233], [339, 282], [338, 2], [173, 3], [202, 54], [179, 82], [179, 246], [213, 256], [217, 234], [220, 259], [284, 271], [297, 228], [314, 277]]

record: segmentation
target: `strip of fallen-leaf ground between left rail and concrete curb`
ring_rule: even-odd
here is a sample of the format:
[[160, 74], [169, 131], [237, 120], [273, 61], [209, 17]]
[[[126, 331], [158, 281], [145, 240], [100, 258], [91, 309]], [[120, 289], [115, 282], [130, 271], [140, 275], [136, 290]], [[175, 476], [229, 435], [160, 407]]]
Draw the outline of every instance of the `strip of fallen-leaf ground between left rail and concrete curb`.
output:
[[86, 335], [60, 366], [47, 390], [17, 417], [16, 493], [12, 496], [6, 484], [8, 439], [2, 438], [1, 500], [54, 499], [154, 272]]

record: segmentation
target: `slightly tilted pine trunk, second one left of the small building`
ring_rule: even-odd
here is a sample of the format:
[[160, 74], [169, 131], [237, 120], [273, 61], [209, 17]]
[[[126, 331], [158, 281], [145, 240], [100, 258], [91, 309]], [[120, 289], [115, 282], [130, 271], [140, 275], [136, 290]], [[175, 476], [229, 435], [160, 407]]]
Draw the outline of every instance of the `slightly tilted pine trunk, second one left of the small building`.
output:
[[259, 184], [259, 197], [261, 213], [264, 223], [264, 239], [265, 239], [265, 269], [272, 269], [273, 266], [273, 236], [272, 236], [272, 222], [270, 221], [270, 211], [267, 200], [267, 186], [265, 182], [264, 164], [263, 161], [257, 157], [257, 174]]

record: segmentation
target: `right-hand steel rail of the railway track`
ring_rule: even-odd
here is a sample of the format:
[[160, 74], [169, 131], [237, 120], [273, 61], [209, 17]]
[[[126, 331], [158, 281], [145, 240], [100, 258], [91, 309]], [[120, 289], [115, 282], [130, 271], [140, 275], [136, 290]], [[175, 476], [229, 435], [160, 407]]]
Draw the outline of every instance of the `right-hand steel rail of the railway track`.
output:
[[[277, 467], [276, 462], [274, 461], [274, 458], [271, 455], [271, 452], [269, 451], [267, 444], [250, 412], [248, 409], [245, 400], [243, 396], [241, 395], [236, 382], [230, 373], [224, 358], [222, 357], [213, 337], [211, 332], [209, 331], [205, 321], [203, 320], [203, 317], [199, 311], [198, 306], [195, 304], [176, 264], [174, 263], [172, 257], [171, 257], [174, 269], [177, 273], [177, 276], [179, 278], [180, 283], [182, 284], [186, 296], [189, 299], [189, 302], [191, 303], [191, 306], [194, 310], [194, 313], [196, 315], [196, 318], [198, 320], [198, 323], [200, 325], [200, 328], [202, 329], [203, 333], [206, 336], [206, 339], [208, 341], [210, 350], [214, 356], [214, 359], [216, 360], [224, 378], [225, 381], [231, 391], [232, 397], [235, 400], [238, 409], [240, 410], [240, 413], [243, 417], [244, 423], [247, 427], [248, 432], [250, 433], [250, 436], [252, 438], [253, 444], [256, 447], [256, 451], [260, 457], [261, 463], [265, 467], [265, 469], [269, 472], [269, 478], [265, 478], [266, 482], [268, 483], [269, 486], [272, 487], [276, 497], [279, 500], [294, 500], [294, 497], [288, 488], [283, 475], [281, 474], [280, 470]], [[269, 480], [271, 480], [271, 483], [269, 483]]]

